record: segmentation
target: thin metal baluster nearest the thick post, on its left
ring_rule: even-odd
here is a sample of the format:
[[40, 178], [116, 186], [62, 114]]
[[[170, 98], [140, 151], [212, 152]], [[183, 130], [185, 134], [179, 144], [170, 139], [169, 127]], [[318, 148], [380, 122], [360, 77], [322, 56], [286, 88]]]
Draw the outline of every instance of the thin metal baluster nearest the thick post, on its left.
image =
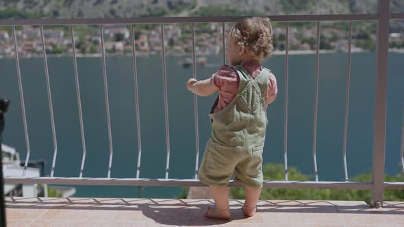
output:
[[349, 22], [349, 41], [348, 41], [348, 72], [346, 76], [346, 94], [345, 94], [345, 120], [344, 120], [344, 144], [342, 148], [344, 161], [345, 181], [348, 181], [348, 168], [346, 167], [346, 140], [348, 133], [348, 111], [349, 111], [349, 83], [351, 78], [351, 40], [352, 40], [352, 21]]

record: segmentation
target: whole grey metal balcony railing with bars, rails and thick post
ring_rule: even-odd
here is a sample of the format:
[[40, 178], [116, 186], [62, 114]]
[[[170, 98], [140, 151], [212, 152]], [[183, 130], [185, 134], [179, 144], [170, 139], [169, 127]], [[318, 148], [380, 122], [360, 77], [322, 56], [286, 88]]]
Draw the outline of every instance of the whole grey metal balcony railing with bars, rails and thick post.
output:
[[[386, 144], [386, 94], [387, 94], [387, 66], [388, 66], [388, 27], [390, 20], [404, 19], [404, 14], [390, 14], [390, 1], [378, 1], [377, 14], [337, 14], [337, 15], [288, 15], [288, 16], [268, 16], [271, 21], [286, 22], [286, 68], [285, 68], [285, 115], [284, 115], [284, 141], [283, 141], [283, 159], [285, 166], [284, 181], [264, 181], [264, 187], [276, 188], [330, 188], [330, 189], [367, 189], [372, 191], [372, 204], [379, 207], [383, 204], [384, 189], [404, 189], [404, 183], [401, 182], [383, 182], [384, 176], [384, 156]], [[132, 185], [132, 186], [205, 186], [197, 180], [197, 170], [199, 164], [199, 126], [198, 126], [198, 108], [197, 96], [194, 95], [194, 120], [195, 120], [195, 139], [196, 139], [196, 156], [195, 156], [195, 172], [193, 179], [173, 179], [168, 177], [170, 164], [170, 135], [168, 124], [168, 98], [166, 83], [166, 56], [164, 52], [164, 24], [166, 23], [191, 23], [192, 25], [192, 62], [193, 62], [193, 78], [197, 78], [196, 59], [195, 59], [195, 23], [222, 23], [223, 27], [223, 52], [225, 52], [225, 23], [240, 21], [244, 16], [212, 16], [212, 17], [164, 17], [164, 18], [84, 18], [84, 19], [38, 19], [38, 20], [0, 20], [0, 26], [11, 26], [14, 38], [14, 51], [16, 58], [16, 72], [18, 77], [18, 88], [21, 98], [21, 109], [23, 112], [23, 126], [25, 132], [25, 144], [27, 147], [27, 156], [25, 159], [24, 171], [22, 176], [5, 176], [5, 183], [46, 183], [60, 185]], [[314, 98], [314, 131], [313, 131], [313, 165], [315, 181], [288, 181], [288, 51], [289, 51], [289, 23], [297, 21], [315, 21], [317, 26], [316, 33], [316, 77], [315, 77], [315, 98]], [[320, 49], [320, 22], [321, 21], [349, 21], [349, 46], [348, 46], [348, 68], [346, 77], [346, 96], [345, 96], [345, 114], [344, 114], [344, 141], [342, 148], [342, 158], [344, 164], [345, 181], [318, 181], [318, 170], [316, 161], [316, 138], [317, 138], [317, 109], [318, 109], [318, 78], [319, 78], [319, 49]], [[348, 128], [349, 114], [349, 85], [351, 75], [351, 39], [352, 27], [355, 21], [377, 21], [377, 84], [375, 88], [375, 118], [374, 118], [374, 134], [373, 134], [373, 181], [372, 182], [350, 182], [348, 178], [348, 169], [346, 166], [346, 133]], [[108, 101], [108, 81], [105, 66], [105, 47], [103, 39], [103, 26], [108, 24], [127, 24], [131, 25], [131, 44], [133, 53], [134, 67], [134, 88], [135, 88], [135, 108], [136, 108], [136, 128], [138, 136], [138, 160], [136, 167], [136, 176], [134, 178], [111, 178], [112, 158], [114, 155], [112, 149], [112, 132], [110, 122], [110, 107]], [[136, 65], [136, 48], [134, 43], [134, 24], [160, 24], [162, 38], [162, 76], [164, 82], [164, 110], [166, 123], [166, 170], [165, 178], [140, 178], [140, 164], [142, 155], [141, 131], [140, 131], [140, 111], [139, 111], [139, 94], [138, 94], [138, 73]], [[53, 161], [51, 174], [49, 177], [27, 177], [25, 170], [29, 160], [29, 136], [27, 129], [27, 120], [25, 116], [25, 101], [23, 96], [23, 85], [21, 81], [21, 71], [18, 60], [18, 44], [16, 40], [16, 29], [18, 25], [39, 25], [40, 35], [42, 38], [43, 58], [45, 64], [45, 74], [47, 79], [47, 96], [49, 98], [49, 110], [51, 114], [51, 126], [53, 135]], [[75, 88], [77, 94], [77, 103], [79, 109], [79, 122], [81, 132], [81, 144], [83, 155], [78, 177], [55, 177], [55, 161], [58, 155], [57, 138], [55, 135], [55, 123], [53, 120], [53, 107], [51, 100], [51, 88], [49, 85], [49, 73], [47, 65], [47, 54], [45, 50], [45, 39], [43, 34], [43, 26], [45, 25], [70, 25], [71, 26], [71, 42], [73, 44], [73, 65], [75, 74]], [[108, 122], [108, 139], [110, 145], [110, 157], [108, 162], [108, 173], [106, 178], [84, 177], [84, 163], [86, 159], [86, 140], [84, 134], [84, 122], [81, 111], [81, 96], [79, 87], [79, 77], [77, 73], [77, 59], [75, 51], [75, 32], [73, 25], [99, 25], [101, 32], [101, 51], [103, 59], [103, 79], [105, 89], [105, 106], [107, 111]], [[223, 62], [225, 63], [225, 53], [223, 53]], [[403, 117], [404, 119], [404, 117]], [[404, 120], [403, 135], [401, 142], [401, 162], [404, 171]], [[241, 186], [240, 183], [231, 181], [229, 186]]]

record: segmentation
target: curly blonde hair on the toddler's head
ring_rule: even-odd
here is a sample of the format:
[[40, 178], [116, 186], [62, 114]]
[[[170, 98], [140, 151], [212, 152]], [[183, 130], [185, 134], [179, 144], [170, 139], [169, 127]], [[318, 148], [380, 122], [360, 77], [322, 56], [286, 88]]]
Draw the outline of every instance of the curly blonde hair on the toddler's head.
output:
[[257, 59], [268, 57], [273, 50], [273, 31], [269, 18], [244, 18], [227, 34], [230, 40], [242, 48], [251, 51]]

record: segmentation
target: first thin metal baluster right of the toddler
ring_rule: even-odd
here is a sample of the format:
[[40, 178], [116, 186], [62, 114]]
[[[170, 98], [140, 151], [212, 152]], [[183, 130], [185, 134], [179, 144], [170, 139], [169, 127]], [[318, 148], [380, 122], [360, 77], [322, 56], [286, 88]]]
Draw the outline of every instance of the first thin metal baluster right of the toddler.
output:
[[286, 22], [286, 56], [285, 56], [285, 116], [283, 122], [283, 164], [285, 181], [288, 180], [288, 83], [289, 83], [289, 22]]

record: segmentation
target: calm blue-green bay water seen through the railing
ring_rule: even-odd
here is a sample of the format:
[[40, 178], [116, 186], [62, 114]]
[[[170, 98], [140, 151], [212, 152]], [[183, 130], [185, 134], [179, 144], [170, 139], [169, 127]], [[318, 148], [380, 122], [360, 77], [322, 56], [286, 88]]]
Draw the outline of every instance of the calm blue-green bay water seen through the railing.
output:
[[[351, 95], [347, 140], [349, 176], [372, 168], [373, 111], [375, 96], [375, 53], [353, 53], [351, 57]], [[192, 77], [192, 67], [179, 64], [184, 57], [166, 58], [168, 116], [170, 132], [170, 178], [192, 178], [195, 165], [193, 96], [185, 83]], [[315, 90], [315, 55], [290, 55], [288, 164], [305, 174], [313, 174], [312, 141]], [[386, 133], [386, 172], [400, 172], [399, 155], [404, 104], [404, 55], [390, 53], [388, 68], [388, 109]], [[140, 56], [138, 83], [142, 164], [140, 177], [164, 178], [166, 169], [166, 129], [164, 123], [164, 89], [160, 55]], [[208, 67], [197, 67], [197, 77], [206, 79], [223, 62], [222, 56], [207, 57]], [[112, 123], [114, 158], [112, 177], [136, 176], [138, 144], [134, 107], [133, 60], [131, 57], [107, 58], [108, 92]], [[73, 59], [49, 57], [49, 77], [53, 98], [58, 157], [55, 176], [79, 176], [81, 137]], [[84, 176], [106, 177], [109, 144], [102, 63], [99, 57], [79, 57], [78, 74], [86, 133]], [[264, 163], [283, 163], [283, 122], [285, 57], [274, 55], [264, 62], [277, 77], [278, 97], [268, 107], [268, 128]], [[342, 141], [346, 93], [347, 56], [344, 53], [320, 55], [318, 88], [317, 161], [320, 181], [342, 181]], [[0, 96], [10, 98], [6, 115], [5, 144], [14, 146], [25, 159], [25, 138], [18, 81], [14, 59], [0, 59]], [[53, 157], [49, 103], [42, 58], [21, 58], [25, 108], [31, 144], [31, 159], [45, 159], [45, 173], [50, 173]], [[199, 161], [210, 136], [210, 111], [216, 95], [199, 97]], [[282, 180], [282, 179], [273, 179]], [[290, 179], [293, 180], [293, 179]], [[137, 196], [136, 187], [77, 185], [75, 196]], [[143, 187], [145, 198], [175, 198], [180, 187]]]

